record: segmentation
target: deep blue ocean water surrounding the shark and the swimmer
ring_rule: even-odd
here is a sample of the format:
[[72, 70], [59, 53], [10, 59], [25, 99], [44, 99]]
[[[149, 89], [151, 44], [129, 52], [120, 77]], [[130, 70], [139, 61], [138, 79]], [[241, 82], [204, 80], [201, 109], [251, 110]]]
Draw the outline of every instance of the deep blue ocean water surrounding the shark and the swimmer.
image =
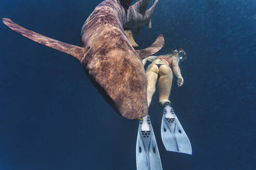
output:
[[[100, 2], [3, 0], [0, 17], [79, 46]], [[149, 107], [163, 169], [256, 169], [255, 28], [254, 0], [160, 0], [135, 37], [142, 49], [162, 33], [157, 54], [188, 54], [170, 100], [193, 155], [165, 150], [157, 94]], [[76, 59], [0, 30], [0, 169], [136, 169], [138, 120], [116, 114]]]

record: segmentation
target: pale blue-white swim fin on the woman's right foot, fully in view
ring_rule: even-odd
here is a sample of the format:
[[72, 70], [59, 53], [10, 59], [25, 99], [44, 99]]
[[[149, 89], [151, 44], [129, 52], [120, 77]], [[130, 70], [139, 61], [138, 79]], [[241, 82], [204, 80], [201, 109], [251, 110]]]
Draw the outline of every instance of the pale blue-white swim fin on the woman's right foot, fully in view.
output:
[[164, 103], [161, 136], [166, 150], [192, 154], [190, 141], [170, 102]]

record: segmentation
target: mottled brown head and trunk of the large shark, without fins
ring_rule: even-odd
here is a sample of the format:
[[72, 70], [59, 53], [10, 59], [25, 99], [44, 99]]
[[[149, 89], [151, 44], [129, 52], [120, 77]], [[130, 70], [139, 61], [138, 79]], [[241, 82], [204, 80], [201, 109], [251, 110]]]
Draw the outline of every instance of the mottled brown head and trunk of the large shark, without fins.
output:
[[144, 117], [148, 110], [144, 65], [125, 36], [117, 12], [111, 8], [97, 11], [82, 29], [85, 74], [122, 117]]

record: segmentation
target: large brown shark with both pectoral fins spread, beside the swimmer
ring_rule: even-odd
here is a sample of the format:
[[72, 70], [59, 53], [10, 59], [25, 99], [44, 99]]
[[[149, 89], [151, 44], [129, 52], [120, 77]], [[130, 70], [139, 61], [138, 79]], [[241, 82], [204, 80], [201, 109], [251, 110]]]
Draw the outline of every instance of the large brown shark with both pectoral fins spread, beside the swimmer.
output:
[[[137, 119], [148, 113], [142, 59], [159, 51], [164, 45], [164, 39], [160, 35], [150, 47], [135, 51], [124, 29], [133, 29], [129, 27], [131, 23], [147, 24], [156, 2], [158, 0], [148, 10], [148, 0], [140, 0], [133, 6], [130, 6], [131, 0], [107, 0], [100, 3], [82, 27], [82, 48], [24, 29], [10, 19], [3, 18], [3, 22], [11, 30], [37, 43], [74, 56], [82, 64], [94, 87], [118, 114], [126, 119]], [[127, 6], [130, 6], [128, 11]], [[130, 9], [133, 15], [129, 14]], [[145, 18], [140, 18], [141, 13], [144, 13]]]

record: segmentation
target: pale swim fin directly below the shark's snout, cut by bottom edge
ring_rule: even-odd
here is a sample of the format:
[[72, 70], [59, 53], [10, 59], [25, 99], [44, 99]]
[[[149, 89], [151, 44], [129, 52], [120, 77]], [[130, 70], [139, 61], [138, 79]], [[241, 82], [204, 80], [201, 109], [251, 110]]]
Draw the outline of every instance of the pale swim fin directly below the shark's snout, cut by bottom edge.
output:
[[137, 170], [162, 170], [157, 141], [149, 115], [147, 115], [146, 121], [149, 125], [149, 131], [142, 131], [143, 122], [139, 122], [136, 144]]

